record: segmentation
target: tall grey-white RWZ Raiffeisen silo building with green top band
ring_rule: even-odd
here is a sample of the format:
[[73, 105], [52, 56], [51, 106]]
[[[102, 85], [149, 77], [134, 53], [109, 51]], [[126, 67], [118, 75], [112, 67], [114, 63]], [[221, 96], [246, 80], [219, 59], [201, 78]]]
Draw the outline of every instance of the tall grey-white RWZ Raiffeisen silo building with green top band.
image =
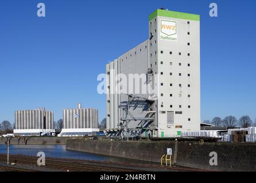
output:
[[[148, 23], [149, 39], [106, 65], [107, 133], [113, 137], [200, 130], [200, 15], [161, 9]], [[130, 85], [123, 92], [120, 74], [146, 75], [146, 93]]]

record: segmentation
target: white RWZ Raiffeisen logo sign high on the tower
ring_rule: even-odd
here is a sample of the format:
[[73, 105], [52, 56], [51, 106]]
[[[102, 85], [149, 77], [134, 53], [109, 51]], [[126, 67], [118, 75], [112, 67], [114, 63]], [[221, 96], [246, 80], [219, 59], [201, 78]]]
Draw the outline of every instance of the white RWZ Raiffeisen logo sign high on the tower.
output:
[[166, 41], [177, 41], [177, 22], [161, 19], [160, 38]]

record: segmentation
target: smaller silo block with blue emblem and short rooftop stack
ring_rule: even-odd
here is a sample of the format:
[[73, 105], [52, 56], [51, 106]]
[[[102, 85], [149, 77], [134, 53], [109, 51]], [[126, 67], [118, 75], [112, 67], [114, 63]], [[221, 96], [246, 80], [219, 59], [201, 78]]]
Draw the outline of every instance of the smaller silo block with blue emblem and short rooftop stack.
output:
[[59, 136], [94, 136], [97, 132], [99, 132], [97, 109], [82, 108], [82, 105], [78, 104], [77, 109], [63, 110], [63, 129]]

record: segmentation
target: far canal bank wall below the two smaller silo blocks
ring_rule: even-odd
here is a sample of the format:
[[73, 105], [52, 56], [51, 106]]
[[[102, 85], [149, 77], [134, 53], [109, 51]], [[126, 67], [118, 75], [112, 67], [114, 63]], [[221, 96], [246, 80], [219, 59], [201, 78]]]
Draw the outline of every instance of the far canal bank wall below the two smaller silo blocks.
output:
[[[9, 137], [10, 138], [10, 137]], [[68, 139], [74, 139], [72, 137], [11, 137], [11, 145], [55, 145], [66, 144]], [[7, 142], [6, 137], [0, 138], [0, 144]]]

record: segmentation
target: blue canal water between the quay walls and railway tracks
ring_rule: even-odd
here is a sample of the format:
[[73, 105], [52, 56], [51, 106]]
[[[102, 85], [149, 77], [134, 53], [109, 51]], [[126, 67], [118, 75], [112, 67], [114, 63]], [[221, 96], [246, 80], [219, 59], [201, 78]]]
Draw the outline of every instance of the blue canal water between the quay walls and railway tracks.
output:
[[[137, 162], [126, 158], [102, 156], [84, 152], [76, 152], [65, 149], [65, 145], [10, 145], [10, 154], [21, 154], [26, 156], [37, 156], [38, 152], [44, 152], [46, 157], [73, 158], [79, 160], [97, 160], [112, 162]], [[0, 145], [0, 154], [6, 154], [6, 145]]]

